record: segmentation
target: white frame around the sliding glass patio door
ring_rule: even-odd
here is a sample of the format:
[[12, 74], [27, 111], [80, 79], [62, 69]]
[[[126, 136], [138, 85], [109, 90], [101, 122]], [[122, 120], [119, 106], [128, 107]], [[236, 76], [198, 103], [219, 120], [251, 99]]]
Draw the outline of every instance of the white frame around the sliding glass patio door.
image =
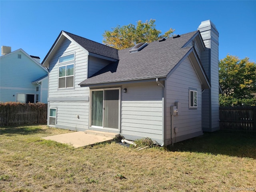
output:
[[[103, 91], [104, 90], [118, 90], [118, 106], [119, 106], [119, 110], [118, 110], [118, 129], [113, 129], [113, 128], [106, 128], [104, 126], [92, 126], [92, 99], [90, 100], [90, 110], [89, 110], [89, 127], [92, 128], [100, 128], [100, 129], [106, 129], [106, 130], [116, 130], [116, 131], [120, 131], [120, 111], [121, 111], [121, 88], [120, 87], [116, 87], [116, 88], [102, 88], [102, 89], [91, 89], [90, 90], [90, 98], [92, 98], [92, 92], [93, 91]], [[103, 98], [104, 98], [104, 94], [103, 94]], [[103, 99], [103, 106], [104, 106], [104, 99]], [[104, 120], [104, 114], [102, 115], [102, 122]], [[104, 124], [104, 123], [103, 123]]]

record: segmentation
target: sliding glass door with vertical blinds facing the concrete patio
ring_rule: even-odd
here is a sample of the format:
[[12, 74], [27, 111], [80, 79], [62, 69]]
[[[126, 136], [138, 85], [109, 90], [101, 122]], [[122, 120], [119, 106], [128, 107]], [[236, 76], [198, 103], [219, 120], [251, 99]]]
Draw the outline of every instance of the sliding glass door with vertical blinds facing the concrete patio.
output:
[[119, 128], [119, 89], [92, 90], [91, 125]]

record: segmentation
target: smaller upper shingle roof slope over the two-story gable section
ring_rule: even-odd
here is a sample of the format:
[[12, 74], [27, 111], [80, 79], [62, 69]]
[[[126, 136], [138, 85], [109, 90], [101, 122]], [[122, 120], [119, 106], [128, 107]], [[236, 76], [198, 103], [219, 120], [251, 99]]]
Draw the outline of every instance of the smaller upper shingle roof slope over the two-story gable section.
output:
[[68, 36], [70, 36], [73, 40], [75, 40], [80, 46], [85, 48], [88, 52], [106, 56], [113, 59], [118, 59], [118, 50], [104, 44], [100, 44], [98, 42], [74, 35], [72, 33], [64, 31]]

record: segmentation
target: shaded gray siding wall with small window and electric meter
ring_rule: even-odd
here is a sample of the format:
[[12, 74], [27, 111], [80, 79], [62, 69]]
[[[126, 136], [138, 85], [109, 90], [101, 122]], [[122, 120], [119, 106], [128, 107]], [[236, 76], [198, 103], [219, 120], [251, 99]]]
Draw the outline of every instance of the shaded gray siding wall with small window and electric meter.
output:
[[[196, 110], [189, 109], [189, 88], [197, 89], [198, 107]], [[178, 115], [174, 116], [174, 127], [178, 128], [176, 136], [188, 139], [193, 137], [190, 136], [193, 132], [202, 134], [201, 84], [188, 58], [167, 79], [166, 98], [166, 139], [171, 138], [170, 106], [174, 106], [175, 102], [180, 102]]]

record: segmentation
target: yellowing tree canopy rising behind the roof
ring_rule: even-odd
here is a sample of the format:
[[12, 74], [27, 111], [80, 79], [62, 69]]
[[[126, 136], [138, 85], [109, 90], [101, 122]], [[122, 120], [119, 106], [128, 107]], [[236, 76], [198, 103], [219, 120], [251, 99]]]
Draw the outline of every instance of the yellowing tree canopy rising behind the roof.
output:
[[174, 32], [174, 29], [170, 28], [160, 35], [162, 32], [156, 29], [155, 22], [156, 20], [154, 19], [146, 20], [144, 23], [139, 20], [136, 26], [128, 24], [112, 28], [112, 31], [106, 30], [103, 34], [103, 43], [116, 49], [124, 49], [141, 42], [149, 43], [161, 38], [168, 38]]

